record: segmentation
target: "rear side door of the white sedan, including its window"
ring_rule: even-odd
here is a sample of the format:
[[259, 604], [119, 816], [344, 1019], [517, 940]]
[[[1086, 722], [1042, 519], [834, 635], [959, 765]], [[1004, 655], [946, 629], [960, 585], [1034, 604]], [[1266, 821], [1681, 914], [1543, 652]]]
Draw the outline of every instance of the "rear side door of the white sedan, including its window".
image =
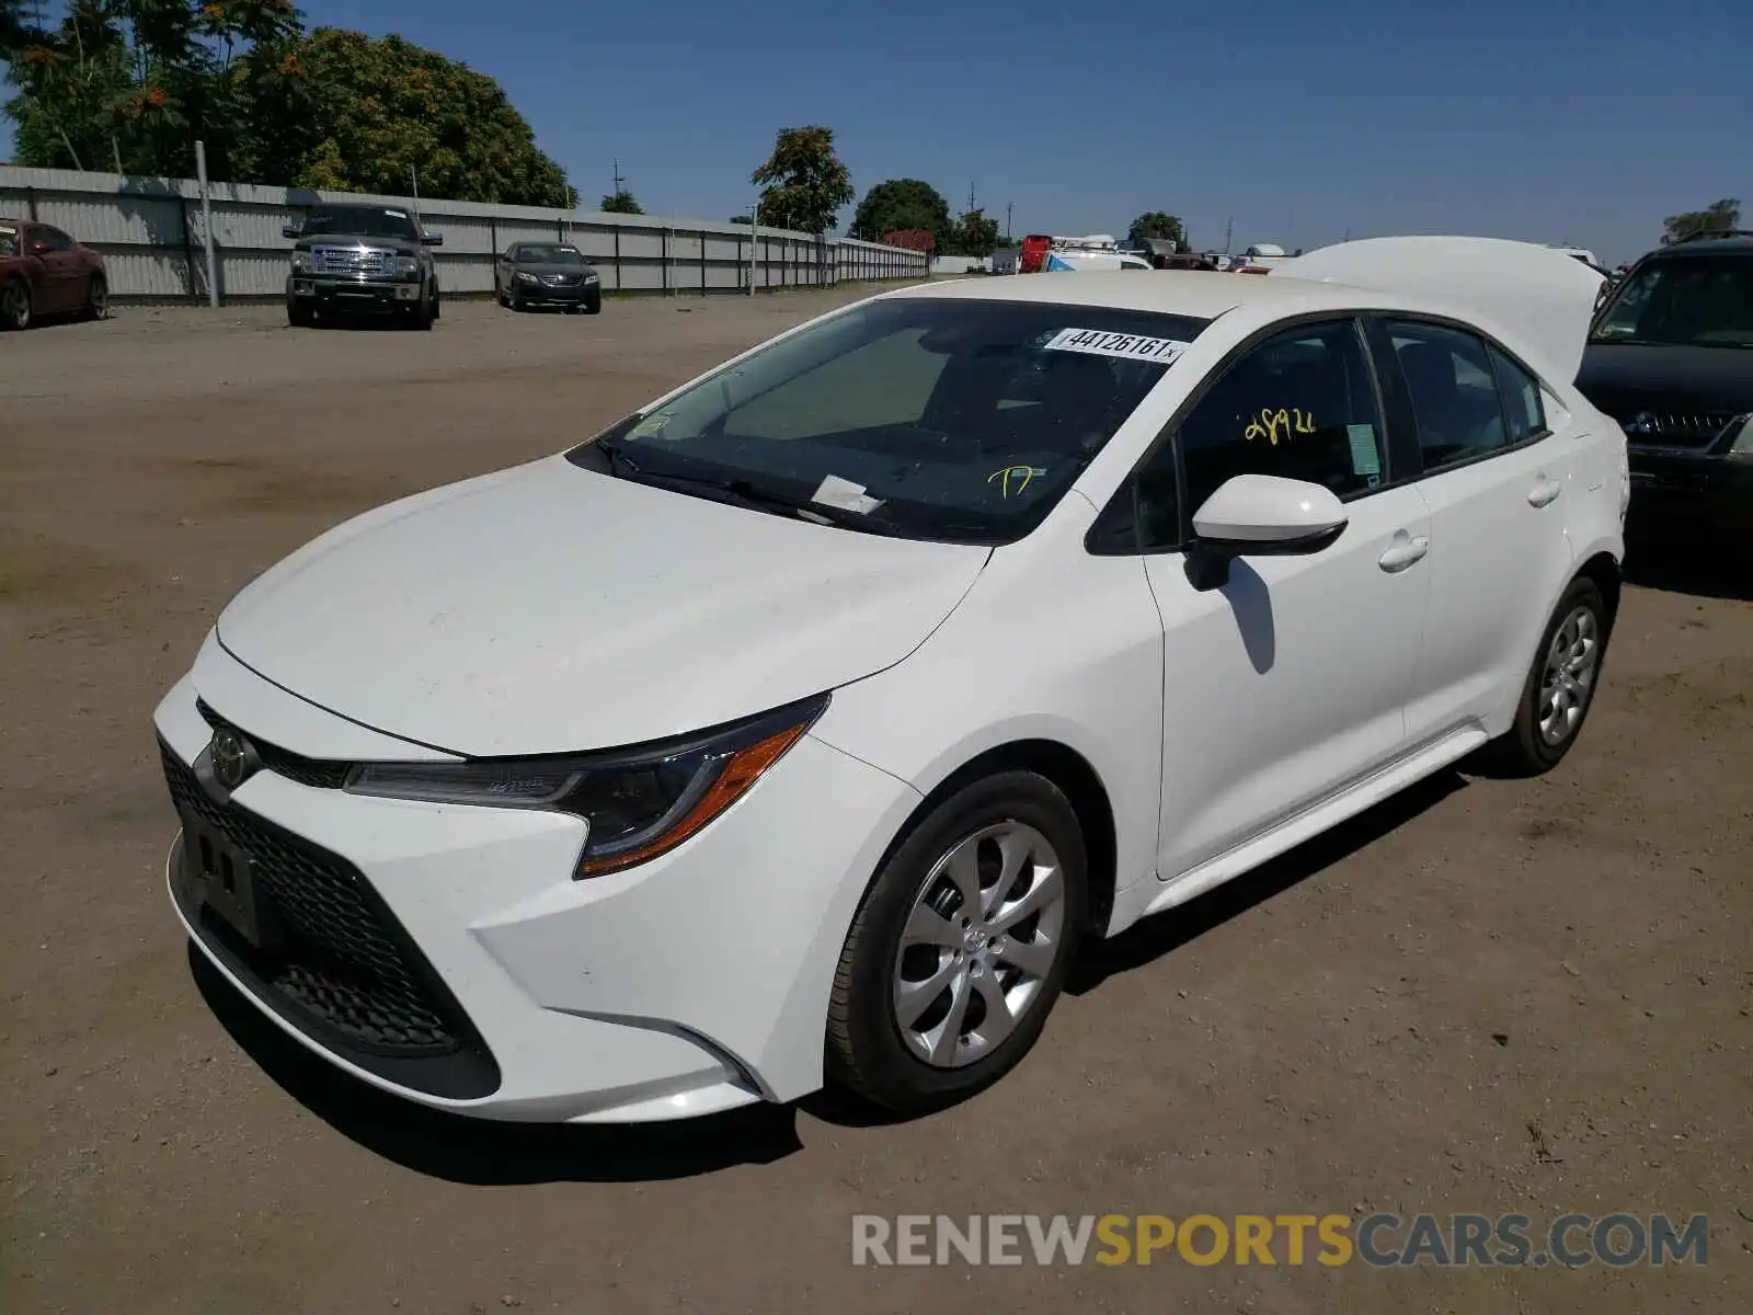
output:
[[1381, 316], [1371, 337], [1395, 423], [1416, 433], [1430, 507], [1430, 614], [1408, 738], [1497, 729], [1572, 570], [1576, 421], [1471, 326]]

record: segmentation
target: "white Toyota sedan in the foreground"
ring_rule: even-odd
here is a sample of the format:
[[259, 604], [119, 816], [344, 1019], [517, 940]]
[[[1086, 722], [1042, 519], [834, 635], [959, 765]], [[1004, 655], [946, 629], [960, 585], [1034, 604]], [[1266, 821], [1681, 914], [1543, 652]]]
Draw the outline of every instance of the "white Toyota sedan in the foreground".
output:
[[252, 580], [156, 712], [217, 970], [408, 1099], [901, 1112], [1111, 936], [1571, 749], [1625, 435], [1427, 296], [908, 288]]

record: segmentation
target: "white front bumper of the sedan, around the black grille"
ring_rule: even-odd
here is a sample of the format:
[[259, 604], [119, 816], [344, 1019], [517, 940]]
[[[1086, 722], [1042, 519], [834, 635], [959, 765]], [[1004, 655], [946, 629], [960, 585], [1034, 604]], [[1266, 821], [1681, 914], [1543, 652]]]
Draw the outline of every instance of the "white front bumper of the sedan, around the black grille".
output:
[[[256, 722], [226, 661], [203, 650], [217, 679], [198, 663], [154, 715], [198, 828], [167, 880], [207, 959], [298, 1041], [487, 1119], [680, 1119], [820, 1085], [834, 964], [912, 787], [805, 736], [701, 835], [580, 882], [584, 828], [559, 814], [354, 796], [268, 754], [224, 803], [191, 796], [210, 719]], [[265, 726], [286, 729], [284, 698], [263, 696]], [[295, 752], [321, 756], [317, 740]], [[188, 854], [216, 835], [252, 850], [279, 949], [254, 950], [219, 896], [203, 903]]]

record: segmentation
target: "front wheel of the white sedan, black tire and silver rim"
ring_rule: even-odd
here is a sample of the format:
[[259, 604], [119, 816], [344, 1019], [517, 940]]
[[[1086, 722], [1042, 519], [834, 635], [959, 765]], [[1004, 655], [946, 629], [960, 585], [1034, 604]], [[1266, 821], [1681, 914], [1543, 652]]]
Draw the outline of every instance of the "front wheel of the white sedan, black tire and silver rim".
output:
[[[1001, 843], [1011, 852], [1008, 868]], [[968, 898], [945, 868], [969, 852], [982, 903], [997, 899], [1010, 912], [992, 905], [964, 929]], [[1013, 880], [999, 896], [1006, 870]], [[1033, 771], [985, 777], [933, 808], [884, 863], [847, 933], [827, 1008], [829, 1080], [910, 1115], [1004, 1077], [1059, 999], [1083, 929], [1085, 873], [1071, 801]], [[1043, 896], [1038, 908], [1027, 905], [1029, 878]], [[1020, 922], [1018, 908], [1027, 913]], [[954, 943], [920, 940], [927, 926]], [[912, 999], [901, 1003], [910, 984]], [[1015, 1022], [999, 1038], [982, 1036], [997, 999], [1017, 1010]]]

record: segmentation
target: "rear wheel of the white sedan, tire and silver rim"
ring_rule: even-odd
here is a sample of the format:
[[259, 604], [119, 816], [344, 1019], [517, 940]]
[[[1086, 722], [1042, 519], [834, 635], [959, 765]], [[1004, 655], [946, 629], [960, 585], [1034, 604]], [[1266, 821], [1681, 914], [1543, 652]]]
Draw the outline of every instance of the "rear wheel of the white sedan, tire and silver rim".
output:
[[[1600, 587], [1590, 579], [1571, 580], [1541, 631], [1515, 724], [1490, 745], [1492, 764], [1504, 775], [1543, 775], [1571, 752], [1595, 703], [1609, 633]], [[1558, 672], [1562, 680], [1555, 680]], [[1551, 698], [1555, 689], [1558, 700]]]

